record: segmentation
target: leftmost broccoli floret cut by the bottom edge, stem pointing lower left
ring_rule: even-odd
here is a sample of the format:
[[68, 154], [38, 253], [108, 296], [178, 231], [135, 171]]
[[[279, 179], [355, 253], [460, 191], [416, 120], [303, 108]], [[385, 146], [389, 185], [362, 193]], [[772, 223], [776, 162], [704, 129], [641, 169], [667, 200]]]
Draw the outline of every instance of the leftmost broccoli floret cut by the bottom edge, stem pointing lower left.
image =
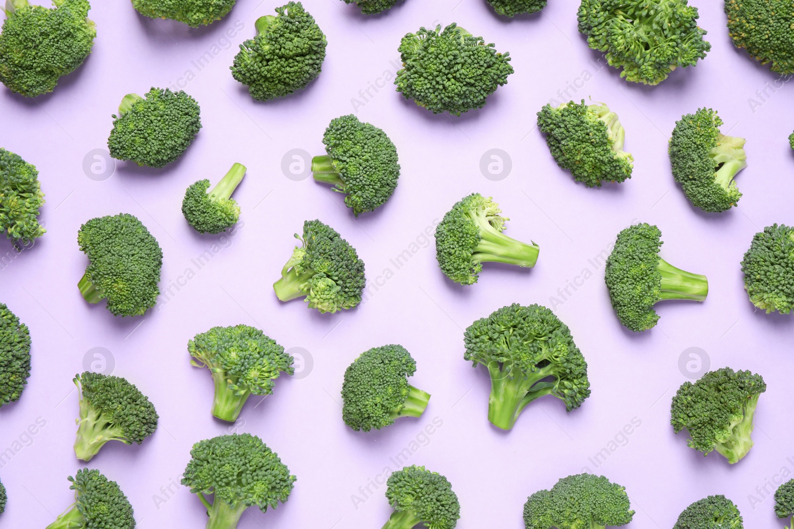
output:
[[75, 491], [75, 504], [58, 516], [46, 529], [134, 529], [133, 506], [118, 483], [109, 481], [98, 470], [81, 469], [69, 476]]

